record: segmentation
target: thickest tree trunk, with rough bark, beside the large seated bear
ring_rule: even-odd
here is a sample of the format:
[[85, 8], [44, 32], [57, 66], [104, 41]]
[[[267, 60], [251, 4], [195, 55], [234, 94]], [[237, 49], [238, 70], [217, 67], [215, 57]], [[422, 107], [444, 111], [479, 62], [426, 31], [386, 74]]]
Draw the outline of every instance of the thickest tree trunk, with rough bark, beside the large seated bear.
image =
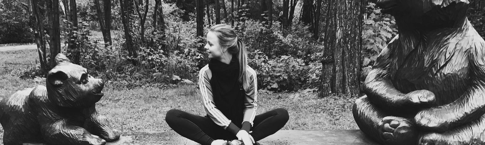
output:
[[[339, 7], [336, 7], [336, 6]], [[328, 0], [324, 53], [331, 54], [333, 71], [322, 70], [331, 76], [330, 85], [321, 85], [320, 96], [330, 87], [331, 93], [355, 96], [360, 92], [361, 0]], [[317, 5], [317, 12], [319, 10]], [[315, 15], [317, 17], [317, 14]], [[326, 57], [328, 58], [328, 57]], [[327, 68], [323, 68], [326, 69]]]

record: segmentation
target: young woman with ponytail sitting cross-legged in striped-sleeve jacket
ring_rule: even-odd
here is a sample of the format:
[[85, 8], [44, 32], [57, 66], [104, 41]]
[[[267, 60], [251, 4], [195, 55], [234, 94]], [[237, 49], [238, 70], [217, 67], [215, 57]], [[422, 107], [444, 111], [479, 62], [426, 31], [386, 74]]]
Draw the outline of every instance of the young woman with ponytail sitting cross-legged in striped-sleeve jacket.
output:
[[200, 70], [199, 87], [207, 116], [173, 109], [165, 116], [170, 128], [202, 145], [253, 145], [280, 130], [289, 118], [285, 109], [256, 115], [256, 72], [234, 30], [211, 27], [205, 48], [210, 62]]

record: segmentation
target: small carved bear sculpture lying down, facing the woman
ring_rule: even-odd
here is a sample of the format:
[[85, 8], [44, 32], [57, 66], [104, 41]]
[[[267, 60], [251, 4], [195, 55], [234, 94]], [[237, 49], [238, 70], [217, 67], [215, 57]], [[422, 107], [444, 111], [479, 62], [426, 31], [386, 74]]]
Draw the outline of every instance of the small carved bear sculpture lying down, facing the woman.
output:
[[0, 102], [5, 145], [104, 145], [119, 139], [108, 120], [96, 111], [103, 80], [56, 56], [46, 86], [17, 91]]

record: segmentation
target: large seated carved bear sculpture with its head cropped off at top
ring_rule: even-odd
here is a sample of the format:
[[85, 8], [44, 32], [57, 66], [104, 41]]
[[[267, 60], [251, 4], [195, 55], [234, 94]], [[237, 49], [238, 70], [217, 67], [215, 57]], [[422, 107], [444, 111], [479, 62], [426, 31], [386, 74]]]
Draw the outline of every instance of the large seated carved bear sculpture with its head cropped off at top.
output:
[[485, 144], [485, 42], [468, 0], [378, 0], [396, 19], [353, 113], [384, 145]]

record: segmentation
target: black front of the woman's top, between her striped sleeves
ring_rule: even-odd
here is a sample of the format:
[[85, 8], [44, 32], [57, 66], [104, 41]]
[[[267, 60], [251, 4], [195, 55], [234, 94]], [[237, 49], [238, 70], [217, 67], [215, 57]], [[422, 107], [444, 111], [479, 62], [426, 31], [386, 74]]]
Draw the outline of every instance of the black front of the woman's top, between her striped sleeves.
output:
[[233, 56], [226, 64], [216, 59], [209, 61], [212, 72], [210, 86], [215, 106], [234, 124], [241, 127], [244, 95], [239, 83], [239, 61]]

